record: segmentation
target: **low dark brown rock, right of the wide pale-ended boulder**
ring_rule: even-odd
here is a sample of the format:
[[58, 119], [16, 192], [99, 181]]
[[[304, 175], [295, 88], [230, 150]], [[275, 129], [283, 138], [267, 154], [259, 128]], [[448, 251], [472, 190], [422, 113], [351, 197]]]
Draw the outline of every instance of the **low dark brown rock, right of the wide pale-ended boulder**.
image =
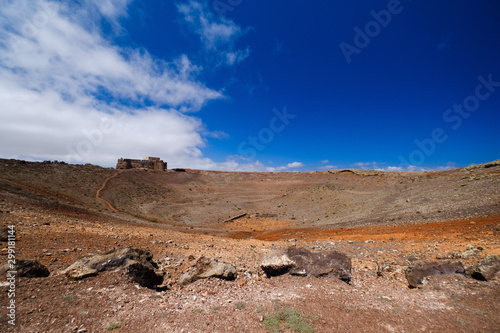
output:
[[460, 274], [465, 276], [464, 265], [459, 261], [417, 263], [405, 271], [410, 288], [421, 287], [428, 276]]

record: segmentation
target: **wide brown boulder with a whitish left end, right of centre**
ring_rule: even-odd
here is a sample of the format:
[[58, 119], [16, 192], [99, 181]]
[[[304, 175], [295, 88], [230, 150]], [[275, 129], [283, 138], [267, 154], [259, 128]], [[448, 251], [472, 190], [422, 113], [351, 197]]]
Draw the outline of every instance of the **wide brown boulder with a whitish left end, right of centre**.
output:
[[267, 276], [289, 273], [351, 281], [351, 259], [338, 251], [311, 252], [295, 247], [275, 250], [264, 257], [261, 268]]

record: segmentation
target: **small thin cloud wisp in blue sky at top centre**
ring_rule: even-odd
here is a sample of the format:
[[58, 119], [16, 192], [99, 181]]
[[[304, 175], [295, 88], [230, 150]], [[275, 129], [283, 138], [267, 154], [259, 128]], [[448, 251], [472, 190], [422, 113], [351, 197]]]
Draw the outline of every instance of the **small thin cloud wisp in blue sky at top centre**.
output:
[[188, 26], [200, 37], [205, 49], [216, 55], [219, 64], [232, 66], [249, 56], [249, 48], [235, 49], [235, 42], [245, 31], [232, 20], [214, 15], [206, 4], [194, 0], [179, 4], [177, 9]]

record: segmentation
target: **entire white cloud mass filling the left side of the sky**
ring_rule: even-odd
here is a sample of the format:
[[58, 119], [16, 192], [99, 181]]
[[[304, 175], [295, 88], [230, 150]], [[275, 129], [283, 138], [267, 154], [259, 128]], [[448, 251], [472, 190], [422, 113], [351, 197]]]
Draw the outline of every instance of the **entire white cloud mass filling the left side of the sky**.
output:
[[169, 167], [274, 171], [203, 156], [207, 137], [227, 135], [185, 112], [224, 96], [186, 55], [166, 62], [107, 40], [96, 22], [117, 24], [129, 2], [0, 0], [2, 157], [113, 166], [152, 155]]

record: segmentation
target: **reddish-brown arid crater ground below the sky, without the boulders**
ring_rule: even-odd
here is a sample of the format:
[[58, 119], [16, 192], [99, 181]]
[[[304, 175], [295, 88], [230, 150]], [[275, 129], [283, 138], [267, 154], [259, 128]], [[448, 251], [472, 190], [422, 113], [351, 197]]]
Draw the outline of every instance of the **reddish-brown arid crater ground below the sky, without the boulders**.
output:
[[[500, 161], [433, 172], [232, 173], [0, 160], [0, 222], [15, 227], [16, 259], [50, 271], [16, 278], [15, 326], [2, 276], [2, 332], [500, 331], [500, 273], [431, 276], [419, 288], [405, 276], [417, 263], [468, 269], [500, 255]], [[141, 286], [120, 269], [79, 280], [63, 273], [124, 247], [149, 251], [163, 284]], [[289, 247], [346, 254], [350, 283], [267, 277], [263, 258]], [[236, 279], [181, 286], [201, 257], [233, 265]], [[0, 258], [7, 262], [5, 241]]]

